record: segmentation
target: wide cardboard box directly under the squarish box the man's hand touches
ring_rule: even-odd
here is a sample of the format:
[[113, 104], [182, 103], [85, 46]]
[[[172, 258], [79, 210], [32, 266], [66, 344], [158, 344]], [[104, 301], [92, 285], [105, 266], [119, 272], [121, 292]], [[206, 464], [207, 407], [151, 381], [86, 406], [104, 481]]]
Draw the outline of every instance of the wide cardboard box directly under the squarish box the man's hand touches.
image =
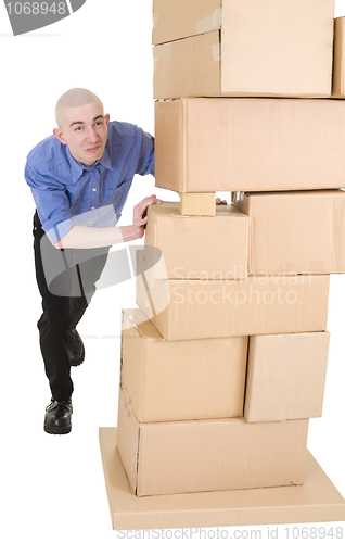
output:
[[137, 251], [137, 272], [136, 302], [167, 340], [327, 328], [329, 275], [154, 279], [143, 251]]

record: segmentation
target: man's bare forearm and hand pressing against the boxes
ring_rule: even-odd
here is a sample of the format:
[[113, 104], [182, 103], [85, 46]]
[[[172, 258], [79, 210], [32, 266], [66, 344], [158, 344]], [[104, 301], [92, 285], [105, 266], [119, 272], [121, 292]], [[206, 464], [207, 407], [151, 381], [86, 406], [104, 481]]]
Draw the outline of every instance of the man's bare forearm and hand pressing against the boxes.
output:
[[95, 249], [140, 239], [144, 235], [144, 225], [148, 222], [148, 217], [142, 218], [144, 211], [149, 205], [161, 203], [162, 200], [157, 199], [155, 194], [144, 198], [133, 207], [133, 223], [130, 226], [91, 228], [75, 225], [54, 243], [54, 247], [56, 249]]

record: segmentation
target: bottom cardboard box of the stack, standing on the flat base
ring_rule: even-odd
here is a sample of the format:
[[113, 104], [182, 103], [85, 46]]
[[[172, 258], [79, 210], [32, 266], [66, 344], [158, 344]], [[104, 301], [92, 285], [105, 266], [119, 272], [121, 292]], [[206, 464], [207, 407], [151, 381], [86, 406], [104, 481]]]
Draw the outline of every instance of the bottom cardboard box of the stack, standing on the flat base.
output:
[[119, 391], [117, 449], [139, 496], [302, 484], [308, 420], [138, 422]]

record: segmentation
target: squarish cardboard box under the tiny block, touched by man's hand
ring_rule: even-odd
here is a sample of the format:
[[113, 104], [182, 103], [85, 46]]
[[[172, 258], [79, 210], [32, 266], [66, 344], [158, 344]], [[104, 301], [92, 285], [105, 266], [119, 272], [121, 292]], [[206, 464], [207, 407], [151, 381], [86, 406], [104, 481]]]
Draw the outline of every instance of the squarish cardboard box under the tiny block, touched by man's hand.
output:
[[217, 205], [215, 217], [186, 217], [178, 202], [164, 202], [150, 205], [148, 216], [145, 248], [162, 251], [166, 266], [154, 266], [154, 277], [247, 276], [250, 219], [233, 205]]

